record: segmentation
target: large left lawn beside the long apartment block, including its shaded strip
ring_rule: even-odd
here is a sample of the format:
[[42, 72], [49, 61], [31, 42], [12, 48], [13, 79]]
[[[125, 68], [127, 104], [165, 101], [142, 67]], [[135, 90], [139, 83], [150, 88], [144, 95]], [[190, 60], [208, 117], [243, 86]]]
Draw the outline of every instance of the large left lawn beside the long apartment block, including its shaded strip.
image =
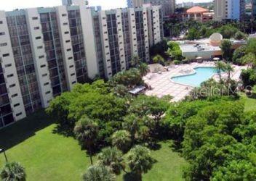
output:
[[[0, 130], [0, 147], [9, 147], [9, 161], [20, 162], [28, 180], [81, 180], [81, 174], [89, 167], [89, 157], [75, 139], [54, 133], [56, 125], [49, 125], [44, 114], [39, 115]], [[36, 129], [39, 127], [41, 130]], [[0, 167], [3, 164], [1, 155]]]

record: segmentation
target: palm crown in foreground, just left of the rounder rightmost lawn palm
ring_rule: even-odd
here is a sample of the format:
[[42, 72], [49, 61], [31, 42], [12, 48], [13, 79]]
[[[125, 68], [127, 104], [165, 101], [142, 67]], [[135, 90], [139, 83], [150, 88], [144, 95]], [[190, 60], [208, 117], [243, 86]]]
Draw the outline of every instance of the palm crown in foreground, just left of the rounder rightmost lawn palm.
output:
[[109, 167], [115, 174], [120, 174], [121, 170], [124, 169], [124, 163], [122, 159], [122, 153], [116, 147], [104, 148], [101, 153], [97, 156], [99, 164], [103, 164]]

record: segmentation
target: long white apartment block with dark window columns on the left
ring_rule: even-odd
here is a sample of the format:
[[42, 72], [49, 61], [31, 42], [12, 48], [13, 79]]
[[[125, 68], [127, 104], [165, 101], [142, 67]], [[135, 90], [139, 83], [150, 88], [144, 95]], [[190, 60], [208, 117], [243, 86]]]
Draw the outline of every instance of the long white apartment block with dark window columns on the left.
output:
[[[73, 2], [72, 2], [73, 4]], [[93, 11], [85, 4], [0, 11], [0, 127], [49, 106], [97, 75], [149, 62], [161, 41], [159, 7]]]

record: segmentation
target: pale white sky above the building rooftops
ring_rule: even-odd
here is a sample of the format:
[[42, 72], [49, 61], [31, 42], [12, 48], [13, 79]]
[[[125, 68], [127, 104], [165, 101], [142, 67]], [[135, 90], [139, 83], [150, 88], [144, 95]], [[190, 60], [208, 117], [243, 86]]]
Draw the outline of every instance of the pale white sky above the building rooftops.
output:
[[[11, 11], [29, 7], [54, 7], [61, 5], [62, 0], [0, 0], [0, 10]], [[185, 1], [204, 2], [212, 0], [176, 0], [176, 3]], [[90, 6], [101, 5], [103, 9], [127, 7], [127, 0], [89, 0]]]

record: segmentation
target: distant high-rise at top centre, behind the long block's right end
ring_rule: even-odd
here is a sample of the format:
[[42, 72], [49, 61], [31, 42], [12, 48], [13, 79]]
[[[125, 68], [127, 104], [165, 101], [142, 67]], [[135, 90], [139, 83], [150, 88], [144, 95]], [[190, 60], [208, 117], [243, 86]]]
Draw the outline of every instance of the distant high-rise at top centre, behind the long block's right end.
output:
[[128, 7], [142, 7], [143, 4], [160, 6], [163, 17], [169, 17], [175, 12], [175, 0], [127, 0]]

